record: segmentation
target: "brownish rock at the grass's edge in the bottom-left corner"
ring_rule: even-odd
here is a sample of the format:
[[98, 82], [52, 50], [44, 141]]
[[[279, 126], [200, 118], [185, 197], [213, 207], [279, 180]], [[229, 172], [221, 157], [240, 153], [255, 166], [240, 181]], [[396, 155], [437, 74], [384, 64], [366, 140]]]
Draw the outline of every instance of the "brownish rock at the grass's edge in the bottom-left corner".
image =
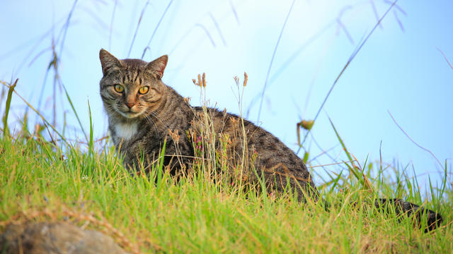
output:
[[0, 253], [126, 253], [110, 236], [67, 222], [9, 224]]

